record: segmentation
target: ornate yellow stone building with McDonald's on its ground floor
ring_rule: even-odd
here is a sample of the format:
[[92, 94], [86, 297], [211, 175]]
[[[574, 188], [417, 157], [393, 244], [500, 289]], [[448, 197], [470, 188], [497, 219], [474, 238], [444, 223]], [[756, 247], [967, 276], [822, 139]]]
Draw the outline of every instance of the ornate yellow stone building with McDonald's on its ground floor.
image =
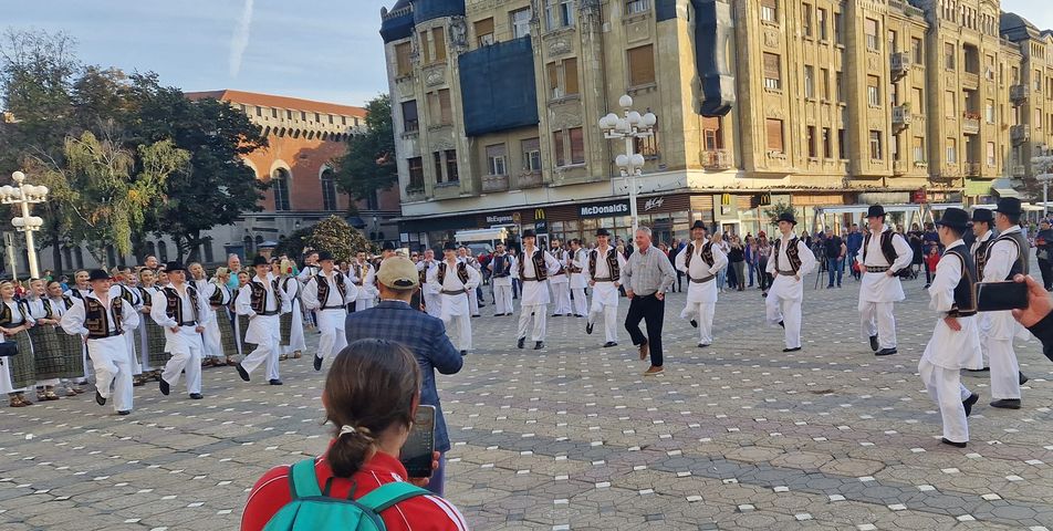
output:
[[1029, 105], [1053, 110], [1018, 86], [1053, 88], [1050, 34], [992, 0], [398, 0], [380, 34], [407, 243], [627, 236], [624, 145], [597, 125], [623, 94], [658, 116], [637, 208], [664, 240], [755, 233], [778, 202], [811, 227], [991, 201], [1044, 143]]

